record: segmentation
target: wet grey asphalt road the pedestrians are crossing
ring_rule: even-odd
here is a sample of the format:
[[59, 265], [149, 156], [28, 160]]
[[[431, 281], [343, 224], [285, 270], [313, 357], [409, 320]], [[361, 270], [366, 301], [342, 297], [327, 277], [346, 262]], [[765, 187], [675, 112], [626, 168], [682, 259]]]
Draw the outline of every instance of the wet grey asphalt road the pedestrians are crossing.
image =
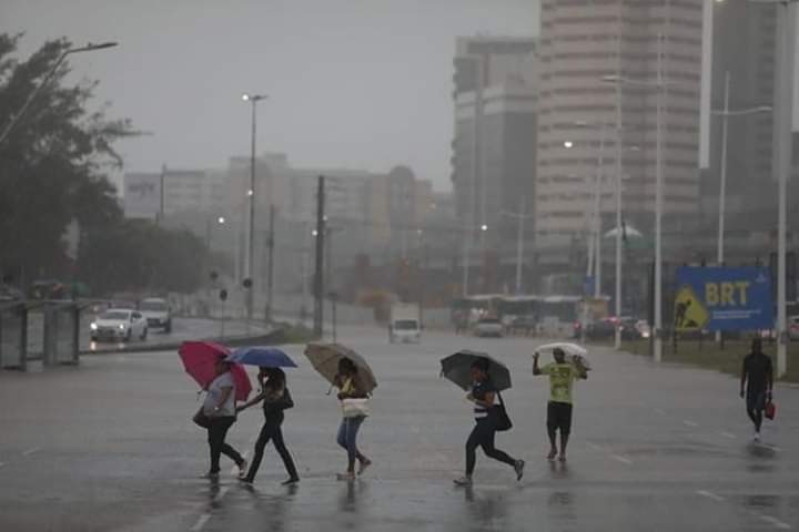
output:
[[[216, 485], [204, 434], [189, 420], [195, 387], [174, 354], [87, 357], [82, 367], [0, 374], [0, 530], [124, 531], [627, 531], [799, 529], [799, 389], [779, 388], [779, 419], [752, 446], [737, 382], [729, 377], [597, 350], [576, 389], [567, 466], [550, 464], [544, 429], [546, 380], [532, 376], [535, 340], [479, 340], [429, 332], [419, 346], [390, 346], [383, 331], [340, 330], [372, 362], [380, 387], [361, 432], [375, 464], [337, 482], [338, 410], [327, 386], [293, 347], [297, 403], [284, 434], [300, 467], [296, 489], [269, 447], [253, 490], [231, 463]], [[504, 393], [513, 431], [497, 447], [527, 460], [512, 472], [479, 451], [475, 487], [453, 487], [471, 430], [463, 393], [438, 378], [438, 359], [485, 349], [510, 366]], [[260, 412], [229, 439], [251, 447]]]

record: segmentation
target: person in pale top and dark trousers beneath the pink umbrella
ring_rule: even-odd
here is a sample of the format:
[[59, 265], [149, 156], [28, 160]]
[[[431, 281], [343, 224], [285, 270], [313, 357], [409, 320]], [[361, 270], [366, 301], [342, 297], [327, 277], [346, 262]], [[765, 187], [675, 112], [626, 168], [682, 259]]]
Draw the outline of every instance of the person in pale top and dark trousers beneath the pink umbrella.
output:
[[208, 441], [211, 449], [211, 469], [204, 478], [218, 480], [220, 474], [220, 456], [230, 457], [239, 466], [239, 475], [246, 472], [246, 460], [225, 443], [227, 430], [235, 422], [235, 382], [231, 375], [231, 362], [223, 358], [216, 361], [216, 378], [209, 385], [203, 402], [203, 413], [209, 418]]

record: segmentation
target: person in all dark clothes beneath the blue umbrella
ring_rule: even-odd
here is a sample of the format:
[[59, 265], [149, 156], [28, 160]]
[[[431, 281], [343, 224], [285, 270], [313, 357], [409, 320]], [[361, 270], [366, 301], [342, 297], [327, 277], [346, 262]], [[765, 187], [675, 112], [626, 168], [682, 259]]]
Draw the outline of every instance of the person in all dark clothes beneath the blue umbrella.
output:
[[252, 484], [255, 481], [255, 474], [261, 467], [266, 443], [272, 440], [289, 473], [289, 479], [283, 482], [283, 485], [295, 484], [300, 482], [300, 475], [294, 466], [294, 460], [283, 441], [283, 430], [281, 428], [285, 418], [283, 413], [284, 410], [294, 407], [294, 401], [286, 386], [285, 372], [281, 368], [261, 367], [259, 370], [259, 382], [261, 383], [261, 393], [236, 408], [236, 411], [241, 412], [262, 402], [264, 412], [264, 423], [263, 427], [261, 427], [261, 433], [255, 442], [255, 454], [250, 464], [250, 470], [241, 481], [247, 484]]

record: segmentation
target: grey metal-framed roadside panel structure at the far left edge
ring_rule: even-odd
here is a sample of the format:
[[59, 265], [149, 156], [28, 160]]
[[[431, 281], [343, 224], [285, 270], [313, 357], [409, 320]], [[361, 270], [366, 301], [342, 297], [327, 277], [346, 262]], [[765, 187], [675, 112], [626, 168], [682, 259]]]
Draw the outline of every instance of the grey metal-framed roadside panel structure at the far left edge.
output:
[[81, 306], [13, 301], [0, 306], [0, 368], [26, 371], [30, 361], [74, 365], [80, 357]]

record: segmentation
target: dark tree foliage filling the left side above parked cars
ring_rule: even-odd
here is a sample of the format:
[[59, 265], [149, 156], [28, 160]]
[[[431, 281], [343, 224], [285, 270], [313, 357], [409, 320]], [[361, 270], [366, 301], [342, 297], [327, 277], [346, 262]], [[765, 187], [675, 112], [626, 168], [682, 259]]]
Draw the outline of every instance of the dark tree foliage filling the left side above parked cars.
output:
[[[27, 60], [20, 35], [0, 33], [0, 131], [44, 80], [64, 51], [49, 41]], [[79, 276], [94, 291], [191, 291], [208, 260], [202, 242], [151, 223], [125, 221], [107, 173], [120, 167], [120, 139], [135, 135], [129, 120], [90, 111], [95, 82], [69, 84], [62, 63], [12, 133], [0, 143], [0, 272], [42, 277]], [[63, 235], [77, 219], [77, 264]]]

